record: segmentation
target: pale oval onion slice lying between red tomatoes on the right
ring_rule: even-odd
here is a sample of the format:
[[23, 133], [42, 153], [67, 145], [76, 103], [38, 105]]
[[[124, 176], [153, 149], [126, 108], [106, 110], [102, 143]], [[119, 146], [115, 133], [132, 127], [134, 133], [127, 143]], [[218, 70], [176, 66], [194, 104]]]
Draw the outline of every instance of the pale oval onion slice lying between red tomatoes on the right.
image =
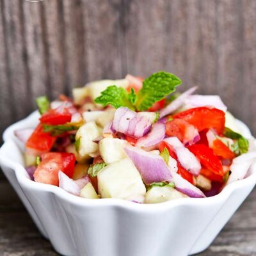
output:
[[201, 170], [201, 164], [195, 155], [186, 147], [174, 147], [174, 150], [181, 166], [193, 175], [198, 176]]

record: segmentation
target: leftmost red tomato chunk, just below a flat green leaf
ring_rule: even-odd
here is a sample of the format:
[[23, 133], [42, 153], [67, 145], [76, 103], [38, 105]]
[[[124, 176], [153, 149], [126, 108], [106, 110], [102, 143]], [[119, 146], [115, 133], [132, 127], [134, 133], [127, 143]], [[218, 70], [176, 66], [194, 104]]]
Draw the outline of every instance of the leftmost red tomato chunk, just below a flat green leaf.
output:
[[42, 124], [39, 124], [29, 137], [26, 147], [40, 153], [49, 152], [55, 141], [56, 137], [51, 136], [49, 132], [44, 132]]

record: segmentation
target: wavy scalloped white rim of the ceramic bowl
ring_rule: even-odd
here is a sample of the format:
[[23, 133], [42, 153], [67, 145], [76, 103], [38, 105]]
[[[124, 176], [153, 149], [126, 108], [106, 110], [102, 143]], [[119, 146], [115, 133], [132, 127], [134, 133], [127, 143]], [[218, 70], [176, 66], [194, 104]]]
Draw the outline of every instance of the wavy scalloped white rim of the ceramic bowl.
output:
[[[207, 198], [178, 198], [176, 200], [170, 200], [159, 204], [136, 204], [134, 202], [129, 202], [128, 200], [118, 198], [100, 198], [100, 200], [81, 198], [79, 196], [72, 195], [65, 191], [64, 189], [61, 189], [57, 186], [52, 186], [50, 184], [42, 184], [30, 180], [28, 177], [28, 173], [26, 172], [22, 164], [19, 164], [15, 161], [12, 161], [4, 157], [4, 150], [6, 147], [19, 148], [19, 145], [15, 143], [13, 131], [15, 131], [16, 129], [35, 127], [35, 125], [31, 125], [31, 122], [35, 123], [38, 116], [38, 111], [34, 111], [26, 118], [20, 120], [19, 122], [16, 122], [15, 124], [10, 125], [3, 132], [4, 143], [0, 148], [0, 163], [3, 163], [5, 166], [8, 166], [12, 170], [14, 170], [17, 181], [19, 182], [21, 187], [24, 186], [25, 188], [31, 189], [32, 191], [35, 190], [53, 193], [54, 195], [60, 197], [61, 200], [64, 200], [65, 202], [68, 202], [70, 204], [93, 208], [102, 206], [122, 207], [124, 209], [129, 209], [132, 211], [145, 211], [148, 213], [154, 213], [159, 211], [169, 211], [173, 207], [177, 207], [180, 205], [206, 206], [215, 204], [216, 202], [225, 202], [225, 200], [227, 200], [227, 198], [233, 193], [233, 191], [247, 187], [254, 187], [256, 184], [256, 163], [253, 163], [251, 165], [253, 172], [248, 177], [244, 178], [243, 180], [237, 180], [236, 182], [228, 184], [227, 186], [225, 186], [225, 188], [223, 188], [223, 190], [218, 195]], [[239, 126], [239, 128], [241, 128], [241, 130], [243, 131], [247, 138], [253, 138], [250, 129], [243, 122], [236, 119], [236, 123]]]

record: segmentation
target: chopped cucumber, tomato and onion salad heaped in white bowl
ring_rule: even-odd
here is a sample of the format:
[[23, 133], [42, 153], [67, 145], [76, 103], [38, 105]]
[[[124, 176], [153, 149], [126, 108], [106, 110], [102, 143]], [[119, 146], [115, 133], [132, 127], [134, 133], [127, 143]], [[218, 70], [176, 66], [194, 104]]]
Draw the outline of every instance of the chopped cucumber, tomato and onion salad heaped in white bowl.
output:
[[73, 99], [38, 97], [37, 127], [15, 131], [29, 176], [82, 198], [145, 204], [213, 196], [243, 179], [250, 141], [218, 95], [175, 92], [181, 83], [161, 71], [95, 81]]

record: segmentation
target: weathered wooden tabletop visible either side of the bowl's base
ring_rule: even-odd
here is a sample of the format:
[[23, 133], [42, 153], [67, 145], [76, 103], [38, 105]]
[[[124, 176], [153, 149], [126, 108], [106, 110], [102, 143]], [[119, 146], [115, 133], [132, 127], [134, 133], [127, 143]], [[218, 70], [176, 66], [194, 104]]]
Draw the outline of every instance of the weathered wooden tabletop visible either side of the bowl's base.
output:
[[[198, 256], [256, 255], [255, 213], [256, 189], [228, 222], [212, 246]], [[28, 212], [5, 179], [0, 179], [0, 255], [58, 255], [49, 241], [40, 235]]]

